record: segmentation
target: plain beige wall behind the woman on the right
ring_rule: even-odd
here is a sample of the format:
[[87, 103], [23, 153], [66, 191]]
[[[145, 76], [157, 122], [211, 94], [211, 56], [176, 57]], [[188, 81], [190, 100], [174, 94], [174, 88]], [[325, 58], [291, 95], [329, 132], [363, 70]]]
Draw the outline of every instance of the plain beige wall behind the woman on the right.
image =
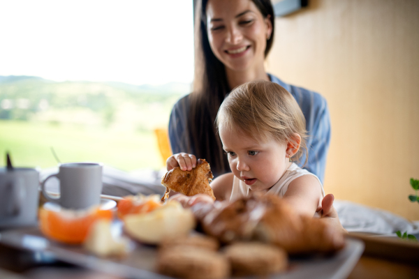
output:
[[325, 192], [419, 220], [419, 1], [310, 0], [275, 24], [268, 71], [328, 100]]

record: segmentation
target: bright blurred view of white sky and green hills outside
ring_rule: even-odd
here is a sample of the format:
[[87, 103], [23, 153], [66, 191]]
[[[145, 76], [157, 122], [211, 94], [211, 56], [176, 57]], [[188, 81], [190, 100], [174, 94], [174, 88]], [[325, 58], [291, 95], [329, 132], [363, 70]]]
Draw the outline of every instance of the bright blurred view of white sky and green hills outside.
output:
[[191, 89], [192, 0], [0, 7], [0, 154], [45, 168], [53, 147], [62, 162], [163, 167], [154, 130]]

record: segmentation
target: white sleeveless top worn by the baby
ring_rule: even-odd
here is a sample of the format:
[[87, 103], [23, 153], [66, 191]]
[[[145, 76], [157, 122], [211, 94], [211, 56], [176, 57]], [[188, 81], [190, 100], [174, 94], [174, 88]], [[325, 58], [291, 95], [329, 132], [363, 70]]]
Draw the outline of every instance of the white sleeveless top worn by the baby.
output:
[[[286, 170], [284, 175], [281, 177], [281, 179], [279, 179], [279, 181], [275, 183], [275, 185], [272, 186], [272, 188], [270, 188], [267, 191], [267, 193], [275, 194], [275, 195], [279, 195], [279, 197], [283, 197], [286, 193], [286, 190], [288, 190], [288, 186], [290, 185], [291, 181], [293, 181], [297, 177], [300, 177], [306, 174], [316, 177], [316, 179], [318, 180], [318, 183], [320, 183], [320, 186], [321, 186], [321, 194], [324, 197], [325, 191], [323, 190], [323, 185], [321, 184], [320, 179], [318, 179], [318, 177], [315, 174], [312, 174], [307, 169], [302, 169], [301, 167], [298, 167], [297, 164], [295, 163], [292, 163], [290, 167], [288, 167], [288, 169]], [[244, 183], [244, 181], [241, 181], [236, 176], [234, 176], [233, 189], [231, 190], [231, 195], [230, 195], [230, 202], [236, 199], [239, 199], [240, 197], [247, 197], [247, 195], [249, 195], [249, 190], [250, 190], [249, 186], [247, 186], [246, 183]]]

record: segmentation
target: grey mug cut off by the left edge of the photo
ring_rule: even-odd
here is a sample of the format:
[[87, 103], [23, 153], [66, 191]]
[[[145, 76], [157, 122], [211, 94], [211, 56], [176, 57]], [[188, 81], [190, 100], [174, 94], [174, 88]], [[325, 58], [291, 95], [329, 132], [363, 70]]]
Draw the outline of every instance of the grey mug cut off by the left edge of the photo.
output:
[[38, 188], [37, 169], [0, 168], [0, 228], [36, 225]]

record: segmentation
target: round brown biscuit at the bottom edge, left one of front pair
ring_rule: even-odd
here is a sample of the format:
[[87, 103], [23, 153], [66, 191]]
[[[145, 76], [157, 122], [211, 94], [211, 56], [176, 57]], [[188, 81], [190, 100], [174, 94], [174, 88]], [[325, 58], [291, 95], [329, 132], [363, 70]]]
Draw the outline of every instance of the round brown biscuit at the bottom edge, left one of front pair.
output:
[[230, 264], [218, 252], [192, 246], [163, 249], [157, 257], [157, 272], [186, 279], [219, 279], [230, 276]]

